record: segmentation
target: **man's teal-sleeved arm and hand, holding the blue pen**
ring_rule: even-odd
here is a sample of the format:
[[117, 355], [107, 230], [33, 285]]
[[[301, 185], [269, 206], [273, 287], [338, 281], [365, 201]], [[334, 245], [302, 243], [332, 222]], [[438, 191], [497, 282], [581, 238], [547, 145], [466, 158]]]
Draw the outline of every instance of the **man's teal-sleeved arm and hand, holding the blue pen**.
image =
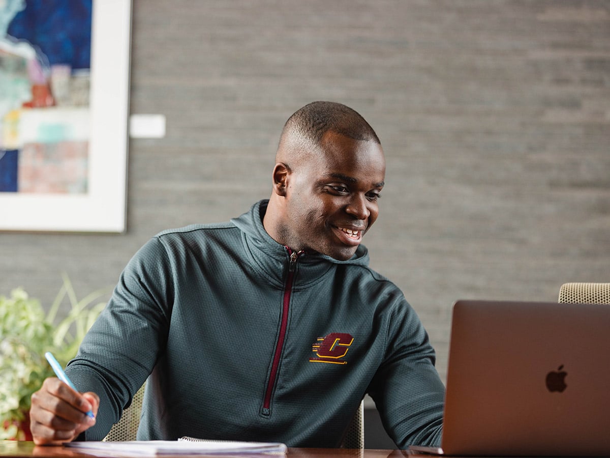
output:
[[[66, 367], [77, 390], [86, 393], [48, 379], [32, 396], [35, 442], [65, 442], [82, 432], [85, 440], [101, 440], [120, 419], [167, 340], [173, 294], [169, 269], [157, 238], [129, 261], [109, 304]], [[93, 404], [96, 420], [81, 418], [82, 406]]]

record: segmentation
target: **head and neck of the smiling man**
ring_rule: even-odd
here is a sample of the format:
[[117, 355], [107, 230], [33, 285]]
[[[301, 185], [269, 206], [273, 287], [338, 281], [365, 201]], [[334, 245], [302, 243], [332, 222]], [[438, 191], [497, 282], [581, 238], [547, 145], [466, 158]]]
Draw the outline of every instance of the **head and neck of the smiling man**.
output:
[[385, 173], [364, 118], [340, 104], [309, 104], [282, 131], [265, 230], [292, 249], [348, 260], [377, 219]]

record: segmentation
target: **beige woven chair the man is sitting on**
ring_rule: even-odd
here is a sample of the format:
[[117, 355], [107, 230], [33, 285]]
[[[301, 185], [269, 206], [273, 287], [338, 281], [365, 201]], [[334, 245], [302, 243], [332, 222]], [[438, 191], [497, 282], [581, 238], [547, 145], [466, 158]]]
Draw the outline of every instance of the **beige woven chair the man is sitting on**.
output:
[[[103, 440], [135, 440], [135, 435], [138, 432], [138, 425], [140, 424], [140, 412], [142, 412], [142, 400], [144, 398], [145, 386], [146, 383], [142, 385], [142, 388], [140, 388], [137, 393], [135, 393], [131, 405], [123, 410], [121, 419], [113, 424]], [[341, 448], [364, 448], [364, 401], [360, 403], [360, 407], [348, 427]]]

